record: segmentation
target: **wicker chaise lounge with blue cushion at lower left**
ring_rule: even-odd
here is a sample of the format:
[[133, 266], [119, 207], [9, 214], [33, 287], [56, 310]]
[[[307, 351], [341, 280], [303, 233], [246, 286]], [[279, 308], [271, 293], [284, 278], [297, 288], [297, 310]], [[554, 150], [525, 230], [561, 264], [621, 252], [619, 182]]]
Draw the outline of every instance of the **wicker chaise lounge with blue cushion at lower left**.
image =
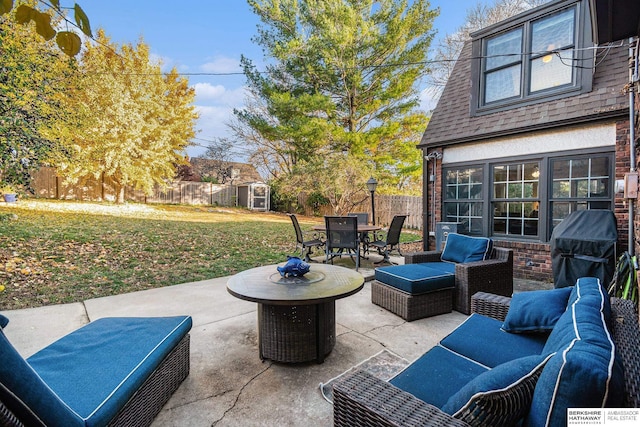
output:
[[189, 316], [98, 319], [26, 360], [7, 323], [2, 426], [148, 426], [189, 374]]

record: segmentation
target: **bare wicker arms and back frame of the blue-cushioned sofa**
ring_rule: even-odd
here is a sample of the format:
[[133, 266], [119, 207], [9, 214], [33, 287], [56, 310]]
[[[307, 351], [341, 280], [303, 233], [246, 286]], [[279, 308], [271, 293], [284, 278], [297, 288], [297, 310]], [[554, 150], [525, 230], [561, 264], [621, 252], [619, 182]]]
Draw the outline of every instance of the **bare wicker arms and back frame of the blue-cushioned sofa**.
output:
[[[504, 320], [510, 298], [479, 292], [472, 298], [474, 312]], [[610, 327], [624, 366], [625, 407], [640, 406], [640, 328], [631, 301], [611, 299]], [[477, 311], [476, 311], [477, 310]], [[465, 426], [440, 409], [366, 372], [339, 380], [333, 388], [336, 426]]]

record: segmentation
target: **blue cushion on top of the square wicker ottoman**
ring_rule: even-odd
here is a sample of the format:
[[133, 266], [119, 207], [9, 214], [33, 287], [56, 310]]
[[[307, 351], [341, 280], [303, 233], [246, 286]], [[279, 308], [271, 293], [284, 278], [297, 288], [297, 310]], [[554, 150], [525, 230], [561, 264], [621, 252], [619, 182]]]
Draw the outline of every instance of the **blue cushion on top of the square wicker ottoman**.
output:
[[410, 294], [424, 294], [455, 286], [456, 265], [450, 262], [378, 267], [375, 279]]

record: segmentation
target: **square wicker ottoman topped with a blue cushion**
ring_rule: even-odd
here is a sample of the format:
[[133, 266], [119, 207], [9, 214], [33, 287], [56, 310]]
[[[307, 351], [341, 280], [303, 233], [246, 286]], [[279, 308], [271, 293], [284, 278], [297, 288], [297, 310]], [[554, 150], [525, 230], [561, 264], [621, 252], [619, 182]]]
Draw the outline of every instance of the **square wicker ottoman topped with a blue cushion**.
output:
[[371, 302], [407, 321], [453, 310], [455, 264], [434, 263], [376, 268]]

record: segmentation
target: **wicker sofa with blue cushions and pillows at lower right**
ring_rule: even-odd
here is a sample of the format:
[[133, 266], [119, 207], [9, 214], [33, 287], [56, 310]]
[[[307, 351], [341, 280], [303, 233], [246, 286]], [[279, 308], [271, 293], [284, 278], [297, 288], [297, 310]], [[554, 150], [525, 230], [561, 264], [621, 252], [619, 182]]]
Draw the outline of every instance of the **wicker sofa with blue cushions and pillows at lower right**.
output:
[[[595, 278], [581, 278], [563, 292], [474, 295], [474, 314], [389, 382], [366, 372], [337, 382], [334, 424], [511, 425], [524, 420], [529, 426], [563, 426], [567, 408], [637, 408], [637, 307], [609, 300]], [[540, 304], [531, 304], [540, 295]], [[551, 295], [557, 304], [549, 304]], [[546, 315], [538, 313], [535, 320], [536, 310]], [[502, 330], [519, 321], [520, 333]], [[524, 375], [514, 371], [526, 364]]]

